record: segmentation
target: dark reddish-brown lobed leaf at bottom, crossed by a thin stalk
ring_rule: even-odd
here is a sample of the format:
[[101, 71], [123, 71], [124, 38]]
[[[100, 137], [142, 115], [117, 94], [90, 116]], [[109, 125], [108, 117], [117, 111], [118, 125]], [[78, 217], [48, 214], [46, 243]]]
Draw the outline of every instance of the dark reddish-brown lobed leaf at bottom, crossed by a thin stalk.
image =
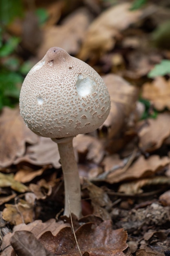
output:
[[[93, 223], [86, 223], [75, 231], [81, 252], [88, 252], [90, 256], [125, 256], [123, 250], [126, 244], [127, 233], [124, 229], [112, 229], [110, 220], [106, 220], [97, 227]], [[95, 238], [95, 239], [94, 239]], [[45, 232], [40, 242], [51, 253], [65, 256], [79, 256], [71, 227], [63, 228], [56, 236]]]

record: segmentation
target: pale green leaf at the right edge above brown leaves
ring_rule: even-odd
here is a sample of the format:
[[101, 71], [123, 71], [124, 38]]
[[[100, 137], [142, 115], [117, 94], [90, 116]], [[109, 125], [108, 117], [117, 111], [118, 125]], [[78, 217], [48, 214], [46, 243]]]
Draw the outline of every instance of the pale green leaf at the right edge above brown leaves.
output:
[[161, 63], [155, 65], [155, 67], [148, 73], [148, 77], [154, 78], [166, 74], [170, 74], [170, 60], [162, 60]]

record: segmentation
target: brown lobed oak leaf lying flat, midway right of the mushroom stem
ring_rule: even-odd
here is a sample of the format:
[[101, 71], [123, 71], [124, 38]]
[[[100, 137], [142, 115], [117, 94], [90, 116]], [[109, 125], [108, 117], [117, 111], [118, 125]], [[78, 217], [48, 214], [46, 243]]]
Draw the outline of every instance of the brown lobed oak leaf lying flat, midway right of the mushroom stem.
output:
[[111, 173], [108, 172], [105, 181], [112, 184], [125, 180], [149, 177], [164, 168], [169, 162], [169, 157], [160, 158], [159, 155], [152, 155], [148, 159], [145, 159], [141, 155], [127, 170], [124, 171], [124, 168], [119, 168]]

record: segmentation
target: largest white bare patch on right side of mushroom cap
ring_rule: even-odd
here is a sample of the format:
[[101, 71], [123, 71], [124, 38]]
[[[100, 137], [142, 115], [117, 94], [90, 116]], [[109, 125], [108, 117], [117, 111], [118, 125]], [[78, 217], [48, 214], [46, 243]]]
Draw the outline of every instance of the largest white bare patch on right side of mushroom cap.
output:
[[85, 97], [86, 95], [95, 92], [96, 83], [93, 79], [91, 79], [91, 77], [79, 74], [75, 86], [79, 96]]

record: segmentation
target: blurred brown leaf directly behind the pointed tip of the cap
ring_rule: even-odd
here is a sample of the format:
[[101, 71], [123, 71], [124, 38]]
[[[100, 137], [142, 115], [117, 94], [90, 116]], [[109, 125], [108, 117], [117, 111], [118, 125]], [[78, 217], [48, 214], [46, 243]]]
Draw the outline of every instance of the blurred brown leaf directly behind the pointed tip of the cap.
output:
[[61, 47], [69, 54], [77, 54], [90, 20], [91, 15], [88, 10], [81, 8], [68, 16], [62, 25], [45, 27], [38, 58], [42, 59], [47, 50], [53, 46]]

